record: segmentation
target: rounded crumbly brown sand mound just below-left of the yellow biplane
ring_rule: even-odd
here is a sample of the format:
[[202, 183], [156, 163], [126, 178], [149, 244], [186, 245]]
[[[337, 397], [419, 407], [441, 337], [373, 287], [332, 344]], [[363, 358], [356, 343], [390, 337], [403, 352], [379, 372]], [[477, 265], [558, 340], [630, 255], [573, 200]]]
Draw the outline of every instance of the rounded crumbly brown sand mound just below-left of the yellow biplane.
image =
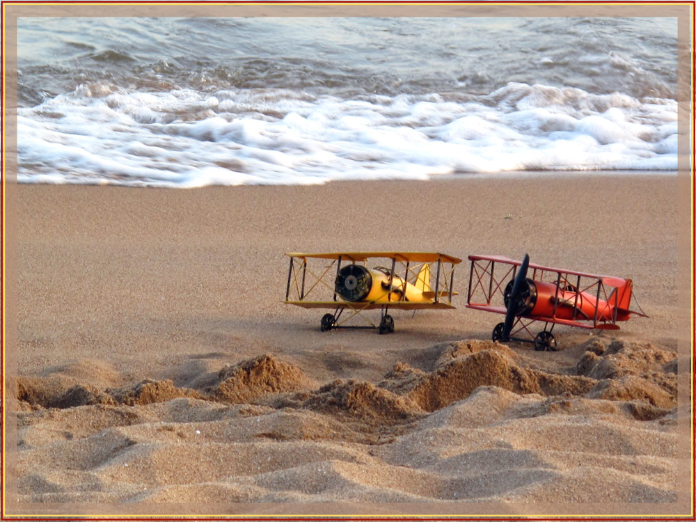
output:
[[226, 367], [209, 395], [221, 402], [254, 402], [274, 393], [287, 393], [311, 385], [299, 367], [278, 361], [272, 354]]

